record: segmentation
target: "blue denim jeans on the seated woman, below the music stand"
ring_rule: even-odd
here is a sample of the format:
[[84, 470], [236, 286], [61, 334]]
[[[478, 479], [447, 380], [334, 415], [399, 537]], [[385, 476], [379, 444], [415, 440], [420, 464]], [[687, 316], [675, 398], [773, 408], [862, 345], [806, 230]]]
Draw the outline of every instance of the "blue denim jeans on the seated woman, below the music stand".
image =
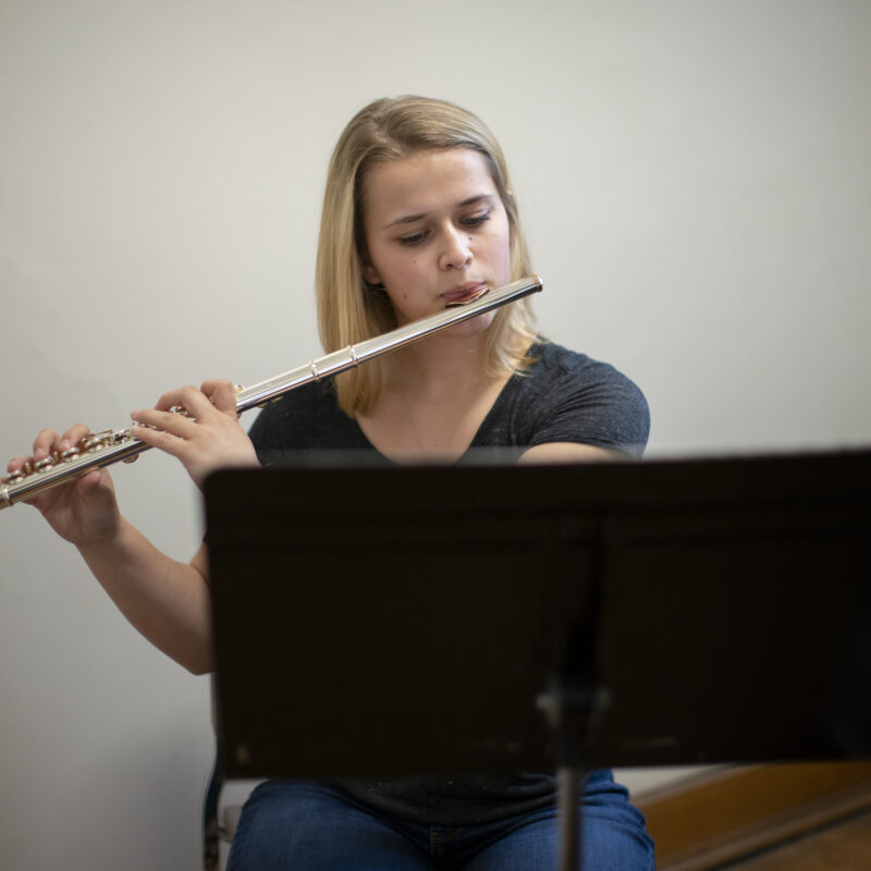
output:
[[[587, 778], [584, 871], [652, 871], [641, 812], [610, 771]], [[553, 808], [494, 823], [429, 826], [390, 819], [334, 786], [270, 781], [252, 793], [228, 871], [544, 871], [556, 869]]]

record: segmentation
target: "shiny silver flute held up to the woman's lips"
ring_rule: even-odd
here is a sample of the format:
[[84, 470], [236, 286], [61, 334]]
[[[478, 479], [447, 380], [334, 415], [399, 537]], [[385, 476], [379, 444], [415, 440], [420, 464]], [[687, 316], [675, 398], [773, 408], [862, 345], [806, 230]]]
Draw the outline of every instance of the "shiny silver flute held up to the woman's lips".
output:
[[[478, 315], [483, 315], [486, 311], [541, 290], [541, 279], [538, 275], [520, 279], [520, 281], [512, 282], [499, 290], [486, 291], [467, 303], [451, 305], [444, 311], [406, 323], [383, 335], [377, 335], [373, 339], [367, 339], [341, 351], [318, 357], [267, 381], [249, 388], [238, 388], [236, 413], [241, 415], [250, 408], [266, 405], [266, 403], [311, 381], [332, 378], [332, 376], [353, 369], [372, 357], [389, 354], [431, 333], [439, 332], [439, 330], [478, 317]], [[183, 408], [177, 410], [185, 413]], [[17, 471], [0, 480], [0, 508], [30, 499], [52, 487], [59, 487], [91, 469], [119, 462], [133, 463], [143, 451], [147, 451], [150, 446], [134, 439], [128, 429], [89, 432], [70, 450], [53, 453], [36, 463], [28, 462]]]

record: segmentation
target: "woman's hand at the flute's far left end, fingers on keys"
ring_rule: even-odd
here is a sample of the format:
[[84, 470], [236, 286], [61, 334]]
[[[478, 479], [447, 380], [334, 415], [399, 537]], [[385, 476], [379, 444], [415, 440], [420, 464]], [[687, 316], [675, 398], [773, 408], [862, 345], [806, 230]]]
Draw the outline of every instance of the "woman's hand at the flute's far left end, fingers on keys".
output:
[[[7, 470], [11, 474], [25, 463], [38, 463], [52, 453], [66, 451], [88, 432], [84, 424], [76, 424], [60, 436], [54, 430], [44, 429], [34, 440], [33, 455], [13, 457]], [[40, 511], [61, 538], [73, 544], [111, 538], [121, 519], [112, 478], [105, 468], [93, 469], [74, 481], [44, 490], [25, 501]]]

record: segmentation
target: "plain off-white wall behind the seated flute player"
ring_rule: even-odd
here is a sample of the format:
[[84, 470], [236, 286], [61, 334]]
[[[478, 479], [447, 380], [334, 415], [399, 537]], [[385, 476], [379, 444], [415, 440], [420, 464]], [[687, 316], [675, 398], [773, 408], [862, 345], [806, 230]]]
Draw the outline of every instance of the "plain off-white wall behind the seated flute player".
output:
[[[493, 127], [541, 327], [638, 381], [650, 455], [868, 444], [869, 36], [864, 0], [0, 0], [2, 453], [317, 355], [328, 154], [402, 93]], [[114, 477], [187, 557], [186, 476]], [[195, 868], [208, 680], [26, 506], [0, 573], [3, 867]]]

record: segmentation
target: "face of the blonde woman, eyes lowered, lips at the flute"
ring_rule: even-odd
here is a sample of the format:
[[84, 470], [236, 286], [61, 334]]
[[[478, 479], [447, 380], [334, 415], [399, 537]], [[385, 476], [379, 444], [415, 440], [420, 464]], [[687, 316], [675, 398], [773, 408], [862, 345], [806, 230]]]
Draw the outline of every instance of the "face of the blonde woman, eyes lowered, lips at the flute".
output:
[[[511, 281], [508, 218], [478, 151], [429, 150], [377, 163], [364, 179], [363, 204], [363, 274], [384, 285], [398, 323]], [[466, 330], [479, 332], [492, 317], [466, 321]]]

